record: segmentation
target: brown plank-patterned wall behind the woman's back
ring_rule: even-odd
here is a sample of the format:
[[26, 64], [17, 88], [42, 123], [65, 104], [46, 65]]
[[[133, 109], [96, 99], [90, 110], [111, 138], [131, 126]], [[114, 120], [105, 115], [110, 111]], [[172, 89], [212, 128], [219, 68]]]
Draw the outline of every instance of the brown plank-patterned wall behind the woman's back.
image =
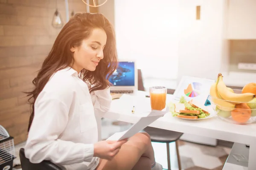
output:
[[[55, 0], [0, 0], [0, 125], [14, 137], [26, 140], [29, 105], [22, 91], [32, 79], [60, 29], [51, 26]], [[70, 13], [85, 12], [81, 0], [69, 0]], [[66, 22], [65, 1], [58, 10]]]

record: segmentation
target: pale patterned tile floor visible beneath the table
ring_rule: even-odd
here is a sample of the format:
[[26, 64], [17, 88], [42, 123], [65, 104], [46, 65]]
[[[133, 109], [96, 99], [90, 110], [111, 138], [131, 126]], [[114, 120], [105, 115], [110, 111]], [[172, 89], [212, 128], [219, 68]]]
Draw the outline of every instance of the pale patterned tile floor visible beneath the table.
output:
[[[129, 127], [131, 124], [125, 122], [102, 119], [102, 139], [107, 139], [113, 133], [127, 130]], [[152, 145], [156, 161], [162, 164], [164, 169], [167, 169], [166, 144], [152, 142]], [[178, 145], [182, 170], [222, 170], [231, 150], [229, 147], [212, 147], [181, 140], [178, 141]], [[19, 148], [23, 146], [24, 143], [15, 146], [16, 156], [18, 156]], [[172, 170], [178, 170], [175, 142], [170, 143], [170, 153]], [[16, 166], [13, 170], [21, 170], [21, 167]]]

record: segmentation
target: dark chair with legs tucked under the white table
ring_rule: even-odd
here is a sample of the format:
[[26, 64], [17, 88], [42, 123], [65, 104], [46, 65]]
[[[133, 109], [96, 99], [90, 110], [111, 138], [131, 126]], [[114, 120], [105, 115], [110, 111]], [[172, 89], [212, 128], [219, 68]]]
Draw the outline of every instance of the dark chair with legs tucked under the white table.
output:
[[[144, 85], [143, 85], [142, 73], [141, 73], [140, 69], [138, 69], [138, 90], [139, 91], [145, 91], [145, 88], [144, 88]], [[168, 94], [173, 94], [174, 91], [175, 90], [173, 90], [173, 89], [168, 89], [167, 93]], [[177, 141], [180, 139], [180, 136], [182, 136], [183, 133], [175, 132], [175, 131], [171, 131], [171, 130], [164, 130], [164, 129], [154, 128], [154, 127], [146, 127], [144, 129], [144, 131], [147, 132], [150, 135], [152, 142], [166, 143], [167, 159], [168, 159], [168, 170], [171, 170], [169, 144], [171, 142], [175, 142], [176, 152], [177, 152], [177, 159], [178, 159], [178, 166], [179, 166], [179, 170], [181, 170], [180, 154], [179, 154], [179, 147], [178, 147]]]

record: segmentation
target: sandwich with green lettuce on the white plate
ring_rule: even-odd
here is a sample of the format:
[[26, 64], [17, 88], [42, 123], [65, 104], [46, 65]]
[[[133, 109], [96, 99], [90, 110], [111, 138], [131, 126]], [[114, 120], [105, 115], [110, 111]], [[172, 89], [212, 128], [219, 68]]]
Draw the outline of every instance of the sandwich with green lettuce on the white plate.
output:
[[180, 98], [180, 102], [175, 104], [175, 115], [186, 119], [202, 119], [209, 116], [206, 106], [196, 100], [186, 101], [184, 96]]

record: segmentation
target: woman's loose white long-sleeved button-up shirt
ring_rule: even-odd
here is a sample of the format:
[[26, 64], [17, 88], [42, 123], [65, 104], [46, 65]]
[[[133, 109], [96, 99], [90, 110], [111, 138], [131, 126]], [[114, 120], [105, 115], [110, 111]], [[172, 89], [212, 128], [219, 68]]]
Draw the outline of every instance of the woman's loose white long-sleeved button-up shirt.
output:
[[[40, 83], [40, 82], [39, 82]], [[98, 142], [95, 111], [108, 111], [110, 89], [89, 93], [78, 73], [68, 67], [57, 71], [35, 101], [25, 155], [32, 163], [52, 161], [67, 170], [93, 170]]]

